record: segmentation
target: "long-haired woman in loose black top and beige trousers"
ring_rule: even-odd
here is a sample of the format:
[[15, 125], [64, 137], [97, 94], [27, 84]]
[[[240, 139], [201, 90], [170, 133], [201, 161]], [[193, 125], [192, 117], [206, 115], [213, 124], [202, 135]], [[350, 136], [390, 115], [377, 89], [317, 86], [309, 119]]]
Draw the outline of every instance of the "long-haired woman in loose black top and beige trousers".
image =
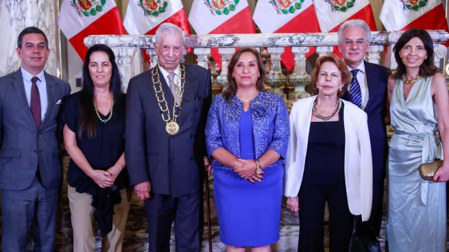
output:
[[67, 179], [73, 251], [121, 251], [130, 190], [125, 171], [125, 95], [112, 50], [94, 45], [86, 53], [84, 88], [65, 103], [64, 144], [71, 157]]

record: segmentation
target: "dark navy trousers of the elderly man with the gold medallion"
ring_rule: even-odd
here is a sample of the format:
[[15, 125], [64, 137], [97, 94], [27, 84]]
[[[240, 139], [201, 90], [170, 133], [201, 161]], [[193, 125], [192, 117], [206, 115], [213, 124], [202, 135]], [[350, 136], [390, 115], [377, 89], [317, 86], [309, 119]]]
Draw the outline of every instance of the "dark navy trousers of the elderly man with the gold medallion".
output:
[[176, 251], [200, 251], [199, 192], [180, 197], [151, 194], [151, 199], [145, 201], [145, 214], [148, 224], [148, 251], [170, 251], [173, 220]]

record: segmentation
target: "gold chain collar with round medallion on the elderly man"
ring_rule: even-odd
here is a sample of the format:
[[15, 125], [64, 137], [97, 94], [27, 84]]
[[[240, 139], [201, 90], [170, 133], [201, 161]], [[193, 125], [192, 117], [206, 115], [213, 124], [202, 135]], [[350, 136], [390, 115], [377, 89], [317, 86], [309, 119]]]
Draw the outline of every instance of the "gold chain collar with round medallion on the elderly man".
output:
[[[178, 134], [178, 131], [180, 130], [180, 125], [176, 123], [176, 120], [181, 113], [182, 95], [184, 95], [184, 84], [186, 83], [186, 68], [183, 64], [180, 64], [180, 71], [178, 73], [178, 76], [181, 79], [181, 86], [180, 93], [178, 93], [179, 88], [176, 88], [175, 97], [173, 97], [173, 113], [170, 113], [169, 105], [167, 104], [167, 100], [165, 99], [164, 91], [162, 90], [162, 85], [160, 84], [158, 70], [158, 65], [156, 65], [153, 70], [151, 70], [151, 81], [153, 82], [154, 92], [156, 92], [156, 99], [158, 100], [162, 121], [165, 122], [165, 131], [173, 136], [175, 134]], [[179, 98], [179, 104], [176, 102], [176, 97]]]

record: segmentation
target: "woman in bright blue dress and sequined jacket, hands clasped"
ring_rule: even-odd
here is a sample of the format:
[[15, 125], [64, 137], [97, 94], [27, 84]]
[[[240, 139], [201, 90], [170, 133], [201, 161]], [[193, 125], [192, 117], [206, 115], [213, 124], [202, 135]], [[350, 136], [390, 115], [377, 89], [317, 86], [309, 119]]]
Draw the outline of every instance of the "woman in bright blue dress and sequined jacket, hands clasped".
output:
[[208, 114], [206, 143], [226, 251], [271, 251], [279, 240], [289, 116], [282, 97], [264, 90], [265, 77], [258, 51], [239, 49], [228, 66], [228, 88]]

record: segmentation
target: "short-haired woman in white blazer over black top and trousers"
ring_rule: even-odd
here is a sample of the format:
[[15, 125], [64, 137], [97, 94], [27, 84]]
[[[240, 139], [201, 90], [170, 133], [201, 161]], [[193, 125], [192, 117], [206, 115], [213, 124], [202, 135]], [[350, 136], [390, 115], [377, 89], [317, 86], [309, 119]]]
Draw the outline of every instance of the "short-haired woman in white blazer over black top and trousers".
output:
[[291, 109], [284, 195], [287, 207], [299, 211], [298, 251], [324, 251], [326, 202], [330, 250], [348, 251], [354, 215], [365, 221], [371, 212], [367, 115], [339, 99], [351, 82], [343, 60], [335, 55], [319, 57], [311, 77], [318, 95], [297, 101]]

